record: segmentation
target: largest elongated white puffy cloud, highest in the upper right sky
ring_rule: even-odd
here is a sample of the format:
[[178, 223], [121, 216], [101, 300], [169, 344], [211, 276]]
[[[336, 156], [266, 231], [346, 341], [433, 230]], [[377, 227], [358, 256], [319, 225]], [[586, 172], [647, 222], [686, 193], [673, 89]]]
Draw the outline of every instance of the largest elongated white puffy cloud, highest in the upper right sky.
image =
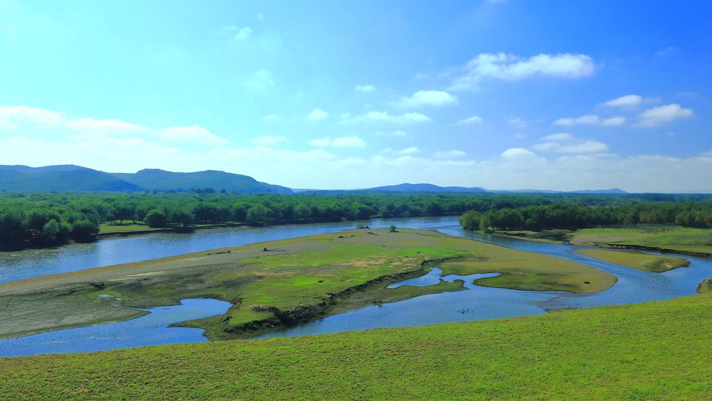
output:
[[539, 54], [521, 58], [506, 53], [481, 53], [467, 63], [451, 90], [478, 89], [481, 80], [521, 80], [533, 77], [582, 78], [595, 71], [593, 59], [585, 54]]

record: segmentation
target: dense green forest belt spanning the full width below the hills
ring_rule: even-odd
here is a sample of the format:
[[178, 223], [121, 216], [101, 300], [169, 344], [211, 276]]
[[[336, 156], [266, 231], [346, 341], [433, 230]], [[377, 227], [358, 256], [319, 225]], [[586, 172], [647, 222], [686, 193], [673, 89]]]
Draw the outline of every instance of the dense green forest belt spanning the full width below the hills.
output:
[[[202, 193], [200, 193], [202, 192]], [[222, 222], [335, 222], [468, 214], [467, 226], [582, 227], [654, 220], [710, 226], [711, 197], [629, 194], [230, 194], [0, 192], [0, 245], [95, 239], [102, 222], [190, 226]], [[650, 217], [653, 216], [653, 217]], [[476, 218], [474, 218], [476, 217]], [[472, 222], [476, 220], [476, 225]]]

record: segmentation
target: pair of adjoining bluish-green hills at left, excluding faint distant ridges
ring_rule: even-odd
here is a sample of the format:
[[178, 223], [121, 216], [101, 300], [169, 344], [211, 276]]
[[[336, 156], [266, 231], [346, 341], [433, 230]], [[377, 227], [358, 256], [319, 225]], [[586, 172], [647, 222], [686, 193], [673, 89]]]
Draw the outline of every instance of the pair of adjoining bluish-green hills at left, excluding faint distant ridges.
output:
[[258, 182], [252, 177], [215, 170], [169, 172], [146, 169], [130, 173], [108, 173], [75, 165], [28, 167], [0, 165], [0, 189], [7, 191], [126, 192], [154, 190], [187, 191], [211, 187], [239, 193], [292, 194], [279, 185]]

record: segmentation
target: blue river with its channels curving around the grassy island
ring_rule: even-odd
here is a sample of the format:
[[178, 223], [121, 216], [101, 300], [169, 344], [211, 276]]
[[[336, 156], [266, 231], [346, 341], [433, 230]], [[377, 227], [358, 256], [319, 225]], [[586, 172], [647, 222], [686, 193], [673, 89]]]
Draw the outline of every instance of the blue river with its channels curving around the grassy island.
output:
[[[368, 224], [372, 228], [384, 228], [390, 224], [396, 224], [403, 228], [435, 229], [444, 234], [464, 236], [523, 251], [548, 254], [607, 271], [617, 276], [618, 281], [612, 288], [592, 294], [516, 291], [504, 288], [487, 288], [473, 284], [474, 279], [491, 276], [491, 274], [440, 277], [439, 269], [434, 269], [430, 274], [422, 278], [395, 283], [394, 286], [399, 284], [433, 285], [442, 278], [446, 281], [464, 280], [464, 285], [468, 289], [466, 291], [419, 296], [406, 301], [387, 303], [381, 307], [368, 306], [358, 311], [342, 313], [287, 330], [260, 335], [257, 338], [335, 333], [345, 330], [397, 326], [421, 326], [455, 321], [476, 321], [489, 318], [534, 315], [545, 313], [546, 309], [585, 308], [619, 303], [659, 301], [693, 295], [696, 293], [698, 283], [712, 277], [712, 261], [706, 259], [685, 257], [691, 262], [689, 267], [665, 273], [650, 273], [610, 264], [573, 252], [573, 249], [581, 248], [580, 246], [548, 244], [507, 236], [473, 233], [462, 230], [457, 222], [457, 217], [425, 217], [414, 219], [374, 219], [367, 222], [271, 226], [265, 228], [209, 229], [199, 230], [194, 234], [157, 233], [147, 236], [105, 239], [92, 244], [71, 244], [50, 250], [31, 249], [8, 252], [0, 254], [0, 283], [19, 278], [88, 269], [95, 266], [108, 266], [187, 252], [205, 251], [223, 246], [237, 246], [258, 241], [337, 232], [343, 229], [351, 229], [356, 224], [361, 223]], [[127, 250], [130, 250], [130, 252]], [[220, 302], [215, 300], [186, 301], [206, 301], [204, 305], [192, 304], [191, 306], [196, 313], [204, 313], [199, 317], [224, 313], [221, 308], [224, 307], [225, 310], [227, 308], [224, 305], [214, 304]], [[196, 318], [194, 315], [186, 317], [187, 315], [179, 313], [182, 307], [184, 305], [153, 308], [150, 310], [152, 313], [147, 316], [122, 323], [58, 330], [24, 338], [0, 340], [0, 356], [106, 350], [205, 340], [201, 335], [202, 330], [199, 329], [166, 328], [170, 323]], [[160, 316], [158, 316], [159, 313], [161, 313]], [[152, 316], [154, 317], [152, 318]], [[155, 322], [162, 323], [144, 324], [150, 319], [155, 319]], [[172, 332], [171, 330], [177, 331]], [[129, 331], [132, 336], [126, 337], [125, 333]]]

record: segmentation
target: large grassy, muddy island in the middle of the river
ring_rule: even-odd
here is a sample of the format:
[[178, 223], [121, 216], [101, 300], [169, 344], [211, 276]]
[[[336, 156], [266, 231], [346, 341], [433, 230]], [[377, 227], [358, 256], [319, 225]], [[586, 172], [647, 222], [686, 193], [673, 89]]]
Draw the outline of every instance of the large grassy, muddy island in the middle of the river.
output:
[[355, 229], [6, 283], [0, 285], [0, 338], [145, 313], [113, 306], [116, 298], [120, 306], [144, 308], [184, 298], [229, 301], [227, 313], [184, 326], [205, 328], [211, 339], [236, 338], [375, 301], [464, 289], [461, 281], [385, 288], [434, 264], [444, 274], [499, 272], [478, 284], [535, 291], [595, 292], [616, 280], [572, 261], [436, 231]]

